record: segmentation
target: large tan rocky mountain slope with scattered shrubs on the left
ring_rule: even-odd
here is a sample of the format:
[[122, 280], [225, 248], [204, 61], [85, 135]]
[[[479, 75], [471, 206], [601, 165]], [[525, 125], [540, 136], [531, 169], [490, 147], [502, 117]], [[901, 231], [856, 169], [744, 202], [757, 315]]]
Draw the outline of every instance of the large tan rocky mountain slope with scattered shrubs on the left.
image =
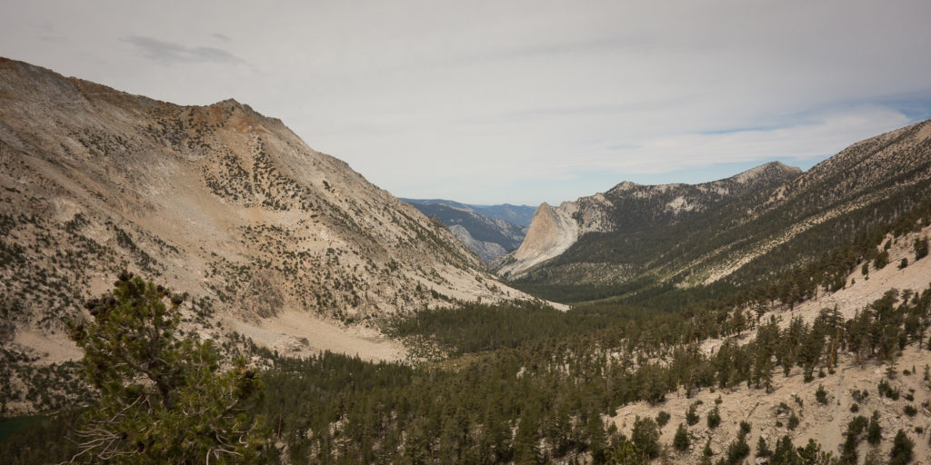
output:
[[73, 357], [62, 319], [122, 269], [186, 294], [190, 330], [285, 352], [358, 352], [377, 334], [319, 335], [522, 296], [443, 225], [235, 100], [174, 105], [0, 59], [0, 166], [13, 359]]

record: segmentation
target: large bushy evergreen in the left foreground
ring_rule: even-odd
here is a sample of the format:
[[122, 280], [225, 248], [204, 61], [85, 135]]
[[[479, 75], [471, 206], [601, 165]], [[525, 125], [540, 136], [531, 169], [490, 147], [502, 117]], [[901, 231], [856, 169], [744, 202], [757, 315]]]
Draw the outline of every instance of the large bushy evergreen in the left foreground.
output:
[[[170, 307], [166, 306], [168, 300]], [[88, 301], [93, 316], [70, 323], [83, 372], [101, 392], [76, 432], [77, 461], [246, 463], [263, 453], [255, 372], [222, 369], [210, 341], [178, 337], [180, 296], [123, 272], [115, 289]]]

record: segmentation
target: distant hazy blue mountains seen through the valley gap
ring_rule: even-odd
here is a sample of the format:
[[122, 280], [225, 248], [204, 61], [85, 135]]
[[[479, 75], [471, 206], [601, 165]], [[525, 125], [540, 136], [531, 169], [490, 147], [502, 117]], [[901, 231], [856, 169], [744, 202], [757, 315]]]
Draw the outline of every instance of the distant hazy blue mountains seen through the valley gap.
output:
[[[477, 206], [469, 206], [444, 200], [401, 199], [420, 210], [427, 217], [436, 217], [445, 224], [455, 236], [472, 249], [486, 263], [492, 261], [520, 245], [526, 226], [483, 215], [476, 211]], [[481, 211], [514, 213], [510, 206], [478, 206]], [[529, 208], [529, 207], [521, 207]]]

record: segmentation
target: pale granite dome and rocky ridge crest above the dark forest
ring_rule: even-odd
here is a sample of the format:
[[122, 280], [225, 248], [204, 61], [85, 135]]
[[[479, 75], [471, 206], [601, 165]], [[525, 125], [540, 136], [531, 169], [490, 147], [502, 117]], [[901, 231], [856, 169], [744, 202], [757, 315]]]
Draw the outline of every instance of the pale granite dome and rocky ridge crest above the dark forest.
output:
[[545, 203], [533, 214], [523, 244], [494, 267], [503, 276], [517, 278], [560, 256], [588, 233], [625, 234], [668, 227], [741, 195], [780, 185], [801, 172], [773, 162], [703, 184], [645, 186], [625, 181], [606, 193], [557, 207]]

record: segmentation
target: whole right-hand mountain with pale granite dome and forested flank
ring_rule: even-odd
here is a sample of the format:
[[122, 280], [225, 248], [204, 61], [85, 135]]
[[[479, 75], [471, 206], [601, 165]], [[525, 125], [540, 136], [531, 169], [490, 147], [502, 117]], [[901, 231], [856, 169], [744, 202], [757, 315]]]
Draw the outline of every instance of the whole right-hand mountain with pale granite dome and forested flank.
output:
[[697, 186], [622, 183], [543, 206], [524, 244], [492, 266], [528, 289], [601, 288], [589, 297], [627, 292], [635, 280], [756, 282], [855, 242], [922, 202], [929, 185], [924, 121], [857, 142], [803, 174], [769, 164]]

